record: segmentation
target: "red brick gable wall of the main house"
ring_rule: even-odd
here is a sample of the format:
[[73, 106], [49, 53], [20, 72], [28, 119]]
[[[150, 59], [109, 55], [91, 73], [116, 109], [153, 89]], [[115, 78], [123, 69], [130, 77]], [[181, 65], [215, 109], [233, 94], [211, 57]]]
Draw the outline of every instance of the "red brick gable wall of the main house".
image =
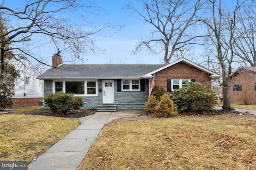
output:
[[[167, 79], [195, 79], [196, 82], [200, 82], [202, 86], [205, 86], [207, 89], [212, 89], [212, 81], [209, 78], [209, 74], [194, 68], [188, 64], [179, 62], [164, 70], [156, 72], [155, 84], [163, 86], [167, 90]], [[151, 78], [152, 82], [152, 78]], [[150, 85], [151, 85], [150, 82]]]

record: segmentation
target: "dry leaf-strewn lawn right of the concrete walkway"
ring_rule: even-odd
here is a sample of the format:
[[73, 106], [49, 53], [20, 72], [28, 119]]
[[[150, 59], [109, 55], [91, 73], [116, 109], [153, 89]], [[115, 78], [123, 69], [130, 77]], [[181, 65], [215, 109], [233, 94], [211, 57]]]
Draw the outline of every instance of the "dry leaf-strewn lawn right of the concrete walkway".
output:
[[78, 170], [256, 169], [256, 115], [120, 118], [107, 123]]

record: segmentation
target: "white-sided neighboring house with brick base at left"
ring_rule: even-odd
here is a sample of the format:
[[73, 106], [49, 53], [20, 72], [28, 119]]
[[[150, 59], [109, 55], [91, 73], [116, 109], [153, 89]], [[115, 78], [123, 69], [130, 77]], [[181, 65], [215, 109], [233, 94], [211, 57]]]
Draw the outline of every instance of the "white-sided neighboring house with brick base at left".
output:
[[20, 77], [15, 81], [15, 95], [12, 96], [14, 108], [39, 106], [43, 97], [43, 81], [36, 79], [40, 75], [24, 55], [15, 55], [16, 59], [10, 60]]

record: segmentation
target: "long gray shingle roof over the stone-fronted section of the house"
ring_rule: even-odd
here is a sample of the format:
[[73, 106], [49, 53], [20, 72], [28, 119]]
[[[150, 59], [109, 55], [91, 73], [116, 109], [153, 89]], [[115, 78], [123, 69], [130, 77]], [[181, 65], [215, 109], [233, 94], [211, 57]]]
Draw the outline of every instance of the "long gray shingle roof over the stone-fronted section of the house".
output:
[[139, 78], [164, 65], [162, 64], [63, 64], [50, 68], [38, 79], [59, 78]]

